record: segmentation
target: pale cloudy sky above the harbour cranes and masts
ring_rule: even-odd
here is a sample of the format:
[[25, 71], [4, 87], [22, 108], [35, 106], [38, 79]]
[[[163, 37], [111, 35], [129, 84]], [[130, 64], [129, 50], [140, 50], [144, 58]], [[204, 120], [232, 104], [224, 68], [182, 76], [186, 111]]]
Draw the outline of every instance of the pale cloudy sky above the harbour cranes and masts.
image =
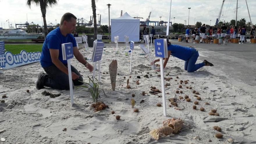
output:
[[[223, 0], [172, 0], [171, 7], [171, 21], [175, 23], [183, 23], [184, 20], [190, 19], [189, 24], [194, 24], [200, 21], [205, 24], [213, 25], [216, 22], [218, 13], [221, 8]], [[145, 21], [149, 13], [151, 13], [151, 21], [161, 20], [168, 21], [170, 12], [170, 0], [98, 0], [96, 2], [96, 13], [101, 14], [103, 24], [108, 24], [108, 6], [110, 3], [110, 19], [120, 17], [121, 10], [123, 14], [127, 12], [132, 17], [143, 17], [141, 21]], [[253, 24], [256, 23], [256, 0], [247, 0], [248, 8], [250, 10], [251, 20]], [[32, 5], [31, 9], [26, 6], [26, 0], [0, 0], [0, 27], [8, 28], [8, 22], [13, 25], [28, 22], [42, 25], [40, 7]], [[235, 19], [236, 0], [225, 0], [223, 12], [221, 16], [222, 21], [230, 21]], [[245, 0], [238, 0], [238, 19], [245, 18], [249, 22], [249, 15]], [[90, 20], [92, 15], [90, 0], [58, 0], [58, 4], [53, 8], [48, 8], [46, 13], [46, 21], [48, 23], [60, 23], [61, 16], [66, 13], [73, 13], [77, 18], [84, 18]], [[56, 21], [55, 21], [56, 19]], [[98, 20], [98, 17], [97, 17]]]

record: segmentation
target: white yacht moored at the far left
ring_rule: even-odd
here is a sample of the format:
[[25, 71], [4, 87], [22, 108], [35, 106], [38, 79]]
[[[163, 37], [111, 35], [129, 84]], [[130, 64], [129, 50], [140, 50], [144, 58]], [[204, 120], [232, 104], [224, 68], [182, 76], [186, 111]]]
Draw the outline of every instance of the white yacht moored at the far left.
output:
[[0, 35], [0, 39], [37, 39], [42, 33], [29, 34], [22, 29], [5, 31]]

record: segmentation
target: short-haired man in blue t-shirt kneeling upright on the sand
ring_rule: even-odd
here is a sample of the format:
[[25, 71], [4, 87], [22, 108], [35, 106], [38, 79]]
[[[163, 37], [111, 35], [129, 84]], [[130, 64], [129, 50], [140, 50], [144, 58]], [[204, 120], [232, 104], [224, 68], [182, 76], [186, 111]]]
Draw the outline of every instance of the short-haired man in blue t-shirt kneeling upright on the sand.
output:
[[[63, 60], [61, 44], [71, 42], [73, 44], [73, 53], [75, 58], [85, 65], [86, 68], [93, 71], [90, 65], [79, 52], [74, 36], [71, 34], [76, 29], [76, 19], [72, 13], [65, 13], [61, 17], [60, 26], [48, 33], [42, 47], [40, 63], [44, 72], [38, 76], [35, 87], [39, 90], [44, 86], [60, 90], [69, 90], [69, 79], [67, 61]], [[81, 74], [71, 65], [71, 75], [74, 85], [81, 85], [83, 78]]]

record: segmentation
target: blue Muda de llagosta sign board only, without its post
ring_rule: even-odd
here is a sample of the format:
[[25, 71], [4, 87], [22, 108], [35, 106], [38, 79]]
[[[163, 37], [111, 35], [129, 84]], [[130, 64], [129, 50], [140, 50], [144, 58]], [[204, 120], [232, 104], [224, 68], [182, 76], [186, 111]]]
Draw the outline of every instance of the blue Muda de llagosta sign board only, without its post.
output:
[[168, 50], [167, 50], [167, 39], [156, 39], [155, 40], [155, 56], [161, 58], [168, 57]]

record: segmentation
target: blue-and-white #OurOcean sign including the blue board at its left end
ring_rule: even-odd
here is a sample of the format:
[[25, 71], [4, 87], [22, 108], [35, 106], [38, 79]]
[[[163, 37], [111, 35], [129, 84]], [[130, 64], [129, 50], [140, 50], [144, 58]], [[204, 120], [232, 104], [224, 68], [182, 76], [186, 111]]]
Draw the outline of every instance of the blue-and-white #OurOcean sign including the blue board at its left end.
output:
[[10, 69], [30, 63], [40, 61], [41, 52], [26, 52], [22, 50], [20, 54], [12, 54], [10, 51], [4, 53], [4, 42], [0, 42], [0, 67]]

